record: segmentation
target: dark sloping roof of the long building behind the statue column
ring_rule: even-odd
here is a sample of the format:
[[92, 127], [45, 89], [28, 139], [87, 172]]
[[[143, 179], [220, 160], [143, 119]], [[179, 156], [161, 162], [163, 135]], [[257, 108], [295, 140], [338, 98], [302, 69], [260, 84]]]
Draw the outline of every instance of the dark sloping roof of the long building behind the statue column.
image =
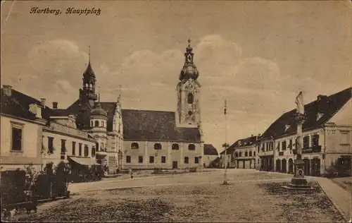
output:
[[[341, 107], [351, 100], [352, 88], [346, 88], [341, 92], [337, 92], [334, 95], [324, 96], [319, 95], [317, 100], [310, 102], [304, 106], [304, 111], [306, 113], [306, 121], [303, 122], [304, 129], [320, 128], [329, 119], [334, 116], [334, 114], [341, 109]], [[320, 119], [317, 120], [317, 114], [323, 114]], [[265, 138], [279, 138], [282, 135], [289, 135], [296, 133], [297, 126], [294, 121], [294, 115], [296, 114], [296, 109], [288, 111], [279, 117], [274, 123], [272, 123], [269, 128], [263, 133], [260, 139]], [[287, 128], [289, 127], [289, 128]], [[285, 131], [285, 128], [286, 131]]]

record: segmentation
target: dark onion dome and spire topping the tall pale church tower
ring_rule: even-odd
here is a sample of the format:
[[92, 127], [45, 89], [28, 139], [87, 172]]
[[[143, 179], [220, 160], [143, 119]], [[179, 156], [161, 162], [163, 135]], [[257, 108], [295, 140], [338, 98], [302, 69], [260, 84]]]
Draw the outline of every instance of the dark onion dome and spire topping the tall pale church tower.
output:
[[[190, 43], [191, 40], [188, 40]], [[192, 47], [189, 44], [188, 47], [186, 48], [186, 52], [184, 53], [184, 66], [181, 70], [180, 73], [180, 80], [188, 80], [189, 78], [192, 78], [196, 80], [199, 77], [199, 71], [196, 68], [196, 65], [193, 63], [193, 56], [194, 53], [192, 53]]]

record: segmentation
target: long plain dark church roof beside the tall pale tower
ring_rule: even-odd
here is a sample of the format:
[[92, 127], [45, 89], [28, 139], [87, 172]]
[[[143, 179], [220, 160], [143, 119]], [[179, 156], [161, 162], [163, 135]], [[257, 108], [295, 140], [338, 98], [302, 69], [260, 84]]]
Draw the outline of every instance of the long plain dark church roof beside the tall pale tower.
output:
[[200, 142], [199, 128], [176, 127], [175, 112], [122, 109], [125, 140]]

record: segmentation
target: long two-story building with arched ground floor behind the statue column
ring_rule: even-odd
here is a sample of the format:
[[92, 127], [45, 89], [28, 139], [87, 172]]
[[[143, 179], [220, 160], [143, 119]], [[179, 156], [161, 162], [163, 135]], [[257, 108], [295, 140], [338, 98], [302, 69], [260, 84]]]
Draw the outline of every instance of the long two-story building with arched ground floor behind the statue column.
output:
[[[318, 95], [305, 105], [302, 159], [306, 175], [326, 174], [335, 166], [341, 174], [351, 175], [352, 88], [334, 95]], [[277, 119], [260, 137], [257, 152], [259, 169], [293, 173], [296, 144], [296, 109]]]

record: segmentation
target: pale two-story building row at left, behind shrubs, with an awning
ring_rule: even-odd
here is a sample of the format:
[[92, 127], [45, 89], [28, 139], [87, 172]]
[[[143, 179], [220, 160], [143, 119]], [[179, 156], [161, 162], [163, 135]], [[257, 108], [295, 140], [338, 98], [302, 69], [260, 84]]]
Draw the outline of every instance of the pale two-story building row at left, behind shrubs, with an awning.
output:
[[75, 116], [54, 111], [45, 101], [9, 85], [1, 88], [1, 167], [23, 169], [33, 164], [41, 170], [48, 162], [96, 164], [96, 140], [76, 128]]

